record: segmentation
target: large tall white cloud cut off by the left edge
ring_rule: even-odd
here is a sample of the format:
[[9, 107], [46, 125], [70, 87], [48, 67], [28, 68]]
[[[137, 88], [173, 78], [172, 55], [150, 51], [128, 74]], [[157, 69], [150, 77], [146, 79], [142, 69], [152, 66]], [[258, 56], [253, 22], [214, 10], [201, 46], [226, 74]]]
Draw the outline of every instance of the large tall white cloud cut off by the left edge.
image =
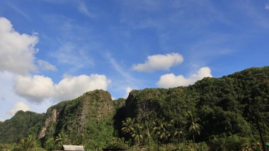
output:
[[0, 71], [26, 74], [35, 70], [38, 37], [20, 34], [8, 19], [0, 17]]

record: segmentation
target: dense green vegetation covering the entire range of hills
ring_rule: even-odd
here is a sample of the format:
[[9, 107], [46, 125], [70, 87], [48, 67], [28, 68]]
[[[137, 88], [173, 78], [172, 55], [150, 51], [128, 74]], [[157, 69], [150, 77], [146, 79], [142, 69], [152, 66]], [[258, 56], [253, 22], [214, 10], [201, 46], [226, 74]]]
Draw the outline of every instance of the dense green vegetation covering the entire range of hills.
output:
[[191, 86], [133, 90], [126, 100], [112, 101], [107, 91], [96, 90], [46, 114], [19, 111], [0, 123], [0, 150], [28, 134], [46, 150], [62, 144], [88, 150], [262, 150], [261, 136], [269, 142], [269, 67]]

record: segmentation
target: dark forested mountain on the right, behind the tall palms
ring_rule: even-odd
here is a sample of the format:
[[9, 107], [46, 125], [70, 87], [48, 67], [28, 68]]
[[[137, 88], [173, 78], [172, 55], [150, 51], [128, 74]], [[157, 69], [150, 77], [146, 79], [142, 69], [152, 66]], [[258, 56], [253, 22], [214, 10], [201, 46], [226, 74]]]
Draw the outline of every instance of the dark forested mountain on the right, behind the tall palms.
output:
[[198, 140], [206, 142], [224, 135], [258, 138], [258, 121], [269, 140], [269, 67], [207, 77], [191, 86], [134, 90], [126, 100], [125, 111], [124, 118], [137, 121], [179, 121], [186, 134], [190, 122], [187, 113], [191, 112], [202, 126]]

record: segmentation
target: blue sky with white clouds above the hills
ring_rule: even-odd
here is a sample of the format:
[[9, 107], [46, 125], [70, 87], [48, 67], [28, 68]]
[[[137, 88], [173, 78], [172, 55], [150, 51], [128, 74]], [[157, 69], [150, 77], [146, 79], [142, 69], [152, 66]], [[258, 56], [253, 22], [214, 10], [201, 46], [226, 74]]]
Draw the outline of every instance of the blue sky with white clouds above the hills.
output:
[[269, 65], [268, 0], [2, 0], [0, 121]]

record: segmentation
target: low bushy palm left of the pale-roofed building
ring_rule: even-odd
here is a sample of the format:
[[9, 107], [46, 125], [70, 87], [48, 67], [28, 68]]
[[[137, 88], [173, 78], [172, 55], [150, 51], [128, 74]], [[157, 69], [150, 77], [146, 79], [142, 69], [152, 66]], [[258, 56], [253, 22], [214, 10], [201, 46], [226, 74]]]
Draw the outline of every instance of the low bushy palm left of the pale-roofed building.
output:
[[28, 135], [28, 137], [23, 138], [19, 144], [20, 150], [23, 151], [30, 151], [33, 150], [33, 148], [36, 145], [36, 139], [33, 137], [33, 135]]

